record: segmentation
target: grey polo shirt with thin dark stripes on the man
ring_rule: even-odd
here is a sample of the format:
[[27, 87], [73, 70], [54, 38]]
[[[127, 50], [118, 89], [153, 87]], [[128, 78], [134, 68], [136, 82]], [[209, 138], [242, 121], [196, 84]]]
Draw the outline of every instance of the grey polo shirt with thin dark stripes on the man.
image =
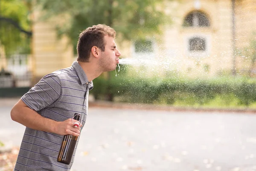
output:
[[[84, 125], [88, 91], [92, 88], [92, 81], [88, 81], [79, 63], [74, 62], [69, 68], [44, 76], [21, 100], [43, 117], [56, 121], [67, 120], [78, 113]], [[15, 171], [70, 170], [76, 149], [70, 165], [57, 162], [62, 139], [61, 135], [26, 127]]]

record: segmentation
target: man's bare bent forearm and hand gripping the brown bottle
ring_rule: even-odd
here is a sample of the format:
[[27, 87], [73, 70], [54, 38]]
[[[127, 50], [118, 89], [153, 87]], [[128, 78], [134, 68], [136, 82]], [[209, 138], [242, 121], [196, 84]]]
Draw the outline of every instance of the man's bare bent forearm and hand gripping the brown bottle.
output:
[[38, 131], [51, 132], [59, 135], [70, 134], [79, 136], [80, 134], [80, 127], [75, 128], [71, 118], [63, 122], [58, 122], [42, 117], [36, 111], [29, 108], [22, 100], [19, 100], [12, 108], [11, 117], [12, 120]]

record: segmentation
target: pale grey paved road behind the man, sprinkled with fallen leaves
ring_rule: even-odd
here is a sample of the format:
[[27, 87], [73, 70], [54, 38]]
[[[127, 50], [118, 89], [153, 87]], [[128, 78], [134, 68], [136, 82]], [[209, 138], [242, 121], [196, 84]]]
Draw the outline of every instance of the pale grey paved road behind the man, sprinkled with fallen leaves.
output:
[[[0, 107], [0, 140], [24, 127]], [[256, 171], [256, 115], [89, 108], [72, 171]]]

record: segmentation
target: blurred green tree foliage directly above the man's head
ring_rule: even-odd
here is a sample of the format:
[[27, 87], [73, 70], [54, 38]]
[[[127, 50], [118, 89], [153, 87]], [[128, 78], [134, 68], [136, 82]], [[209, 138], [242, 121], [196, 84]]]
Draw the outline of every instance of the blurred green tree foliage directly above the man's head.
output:
[[79, 33], [89, 26], [105, 23], [117, 36], [138, 40], [161, 33], [160, 25], [168, 23], [162, 0], [37, 0], [45, 12], [44, 18], [68, 14], [59, 34], [70, 37], [76, 48]]

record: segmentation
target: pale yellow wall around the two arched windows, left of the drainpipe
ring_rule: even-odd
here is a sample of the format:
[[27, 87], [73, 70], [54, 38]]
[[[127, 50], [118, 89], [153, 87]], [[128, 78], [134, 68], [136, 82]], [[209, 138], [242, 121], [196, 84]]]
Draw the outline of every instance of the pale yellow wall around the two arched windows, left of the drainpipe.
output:
[[[209, 17], [209, 28], [183, 27], [184, 18], [189, 12], [200, 10]], [[231, 47], [231, 1], [230, 0], [200, 0], [200, 6], [195, 1], [171, 1], [166, 9], [173, 18], [171, 26], [166, 27], [163, 36], [166, 51], [174, 52], [177, 60], [177, 70], [186, 74], [204, 74], [205, 66], [209, 66], [210, 74], [229, 69], [232, 66]], [[188, 50], [188, 37], [207, 37], [208, 51], [202, 55], [191, 55]], [[172, 56], [171, 56], [172, 57]]]

